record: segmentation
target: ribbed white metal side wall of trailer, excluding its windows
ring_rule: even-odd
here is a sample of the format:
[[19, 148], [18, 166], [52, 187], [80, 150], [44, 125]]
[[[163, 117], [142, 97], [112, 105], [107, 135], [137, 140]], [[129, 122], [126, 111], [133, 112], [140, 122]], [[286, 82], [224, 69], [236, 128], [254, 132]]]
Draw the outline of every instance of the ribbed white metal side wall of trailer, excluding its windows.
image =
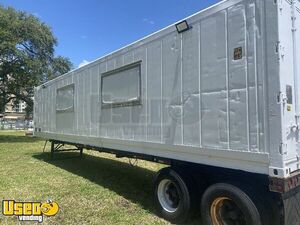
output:
[[[241, 1], [192, 29], [168, 28], [37, 90], [45, 132], [264, 152], [263, 3]], [[243, 58], [234, 60], [242, 47]], [[101, 74], [142, 60], [142, 105], [101, 109]], [[75, 110], [57, 114], [57, 88], [75, 84]]]

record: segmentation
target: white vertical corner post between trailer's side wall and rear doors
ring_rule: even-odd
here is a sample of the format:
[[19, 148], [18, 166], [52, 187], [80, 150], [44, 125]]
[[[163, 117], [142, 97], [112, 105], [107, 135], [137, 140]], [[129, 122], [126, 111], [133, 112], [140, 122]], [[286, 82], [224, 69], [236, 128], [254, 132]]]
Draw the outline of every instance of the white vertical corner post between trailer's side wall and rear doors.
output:
[[[264, 101], [264, 143], [270, 153], [270, 175], [283, 177], [281, 145], [281, 109], [276, 96], [280, 90], [278, 45], [278, 5], [273, 1], [261, 1], [265, 5], [266, 15], [262, 17], [263, 38], [262, 62], [264, 79], [262, 80], [262, 100]], [[279, 1], [277, 1], [279, 2]], [[274, 172], [278, 172], [276, 175]]]

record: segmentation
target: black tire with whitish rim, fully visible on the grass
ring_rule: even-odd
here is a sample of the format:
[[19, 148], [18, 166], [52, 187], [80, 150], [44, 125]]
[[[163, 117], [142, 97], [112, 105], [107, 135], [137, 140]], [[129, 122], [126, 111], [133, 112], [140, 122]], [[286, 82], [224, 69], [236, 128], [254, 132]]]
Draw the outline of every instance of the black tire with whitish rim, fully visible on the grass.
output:
[[[178, 202], [176, 200], [171, 201], [171, 203], [175, 202], [175, 205], [172, 206], [174, 209], [170, 207], [172, 210], [168, 208], [169, 205], [172, 204], [166, 203], [168, 205], [167, 207], [166, 204], [162, 204], [164, 200], [162, 200], [163, 198], [160, 195], [164, 193], [161, 187], [168, 181], [170, 182], [171, 187], [177, 190], [177, 195], [179, 197]], [[154, 180], [154, 201], [159, 215], [176, 224], [184, 223], [189, 220], [196, 208], [196, 193], [194, 189], [195, 185], [192, 184], [192, 179], [187, 174], [182, 173], [182, 171], [176, 171], [172, 168], [160, 170]], [[166, 194], [165, 196], [171, 198], [170, 195], [171, 194]]]

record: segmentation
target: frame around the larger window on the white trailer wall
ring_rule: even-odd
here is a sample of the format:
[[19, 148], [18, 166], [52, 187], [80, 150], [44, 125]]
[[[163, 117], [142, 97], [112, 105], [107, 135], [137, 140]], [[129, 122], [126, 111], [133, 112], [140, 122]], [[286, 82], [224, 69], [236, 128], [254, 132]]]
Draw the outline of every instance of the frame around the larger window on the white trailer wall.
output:
[[[103, 80], [105, 77], [116, 75], [117, 73], [133, 69], [135, 67], [139, 68], [138, 74], [138, 96], [136, 99], [129, 100], [129, 101], [122, 101], [122, 102], [112, 102], [106, 103], [103, 100]], [[130, 106], [138, 106], [142, 104], [142, 60], [122, 66], [120, 68], [105, 72], [101, 74], [101, 107], [102, 108], [118, 108], [118, 107], [130, 107]]]

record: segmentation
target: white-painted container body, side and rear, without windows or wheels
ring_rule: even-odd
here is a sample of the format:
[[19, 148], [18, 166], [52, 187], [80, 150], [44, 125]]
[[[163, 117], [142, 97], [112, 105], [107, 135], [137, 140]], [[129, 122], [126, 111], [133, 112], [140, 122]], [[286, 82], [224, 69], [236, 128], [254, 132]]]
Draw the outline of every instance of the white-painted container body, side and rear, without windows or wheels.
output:
[[[178, 34], [171, 25], [37, 87], [35, 126], [41, 132], [35, 135], [288, 177], [299, 168], [300, 154], [300, 94], [294, 93], [299, 4], [223, 1], [187, 18], [189, 31]], [[295, 41], [293, 11], [299, 18]], [[243, 55], [234, 60], [237, 48]], [[103, 107], [101, 78], [139, 61], [141, 104]], [[57, 112], [57, 90], [68, 85], [74, 85], [74, 107]], [[285, 98], [277, 102], [286, 85], [293, 89], [289, 106]]]

